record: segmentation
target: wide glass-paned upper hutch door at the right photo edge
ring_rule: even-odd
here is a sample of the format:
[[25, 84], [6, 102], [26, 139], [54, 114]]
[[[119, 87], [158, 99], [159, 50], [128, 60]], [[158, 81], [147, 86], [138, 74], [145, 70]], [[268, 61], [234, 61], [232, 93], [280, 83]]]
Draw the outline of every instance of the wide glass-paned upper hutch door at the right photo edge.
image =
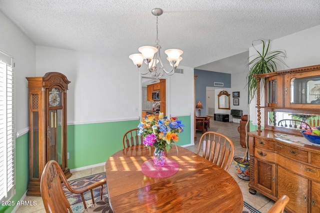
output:
[[319, 109], [319, 91], [311, 92], [320, 84], [320, 70], [285, 75], [285, 108]]

